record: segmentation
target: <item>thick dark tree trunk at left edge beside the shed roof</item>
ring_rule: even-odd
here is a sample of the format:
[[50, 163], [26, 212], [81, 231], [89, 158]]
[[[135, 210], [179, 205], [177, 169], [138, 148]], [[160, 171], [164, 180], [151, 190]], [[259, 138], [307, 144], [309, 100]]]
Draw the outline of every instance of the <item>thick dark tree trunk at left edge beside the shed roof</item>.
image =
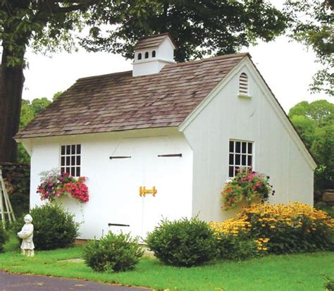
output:
[[4, 47], [0, 67], [0, 162], [15, 162], [17, 144], [13, 136], [20, 125], [20, 110], [23, 91], [22, 66], [8, 67], [8, 51]]

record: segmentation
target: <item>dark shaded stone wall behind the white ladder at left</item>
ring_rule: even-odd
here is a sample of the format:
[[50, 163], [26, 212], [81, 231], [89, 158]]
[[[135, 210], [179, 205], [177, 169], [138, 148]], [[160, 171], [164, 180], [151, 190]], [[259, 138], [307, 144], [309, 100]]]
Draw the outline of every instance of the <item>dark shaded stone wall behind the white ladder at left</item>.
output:
[[29, 212], [30, 165], [23, 163], [0, 163], [6, 190], [15, 215]]

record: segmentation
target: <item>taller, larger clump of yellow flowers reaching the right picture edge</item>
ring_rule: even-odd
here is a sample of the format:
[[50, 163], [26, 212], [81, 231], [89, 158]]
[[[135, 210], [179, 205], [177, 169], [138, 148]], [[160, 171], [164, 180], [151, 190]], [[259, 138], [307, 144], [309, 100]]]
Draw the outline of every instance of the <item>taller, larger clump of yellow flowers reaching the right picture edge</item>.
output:
[[268, 238], [268, 252], [285, 254], [333, 249], [334, 218], [299, 202], [251, 204], [239, 213], [251, 237]]

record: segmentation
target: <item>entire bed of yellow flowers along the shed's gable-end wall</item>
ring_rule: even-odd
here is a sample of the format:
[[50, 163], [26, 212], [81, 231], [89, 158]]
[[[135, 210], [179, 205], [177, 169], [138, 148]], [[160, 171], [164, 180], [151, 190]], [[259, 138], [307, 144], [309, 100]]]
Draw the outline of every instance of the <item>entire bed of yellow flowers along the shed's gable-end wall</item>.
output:
[[237, 213], [237, 218], [211, 221], [210, 227], [218, 238], [221, 256], [230, 259], [240, 259], [245, 254], [334, 249], [334, 218], [299, 202], [254, 203]]

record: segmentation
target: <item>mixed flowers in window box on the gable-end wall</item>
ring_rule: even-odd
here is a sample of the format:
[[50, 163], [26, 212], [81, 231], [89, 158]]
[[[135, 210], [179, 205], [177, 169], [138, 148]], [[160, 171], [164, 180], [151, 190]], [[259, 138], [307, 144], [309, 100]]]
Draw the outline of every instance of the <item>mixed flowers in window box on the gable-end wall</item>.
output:
[[269, 193], [274, 194], [268, 182], [269, 176], [256, 173], [249, 168], [240, 168], [237, 175], [227, 182], [221, 191], [223, 195], [223, 209], [231, 209], [245, 199], [249, 205], [256, 199], [262, 202], [268, 200]]

